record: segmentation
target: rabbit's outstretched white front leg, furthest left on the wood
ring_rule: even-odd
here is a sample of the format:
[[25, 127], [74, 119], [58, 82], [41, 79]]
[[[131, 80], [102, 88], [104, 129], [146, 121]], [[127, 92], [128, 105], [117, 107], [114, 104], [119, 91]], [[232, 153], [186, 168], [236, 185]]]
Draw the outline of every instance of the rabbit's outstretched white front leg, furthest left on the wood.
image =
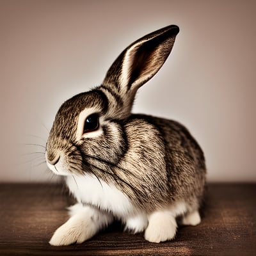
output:
[[83, 243], [113, 221], [111, 214], [82, 204], [70, 207], [70, 215], [70, 219], [54, 232], [51, 245]]

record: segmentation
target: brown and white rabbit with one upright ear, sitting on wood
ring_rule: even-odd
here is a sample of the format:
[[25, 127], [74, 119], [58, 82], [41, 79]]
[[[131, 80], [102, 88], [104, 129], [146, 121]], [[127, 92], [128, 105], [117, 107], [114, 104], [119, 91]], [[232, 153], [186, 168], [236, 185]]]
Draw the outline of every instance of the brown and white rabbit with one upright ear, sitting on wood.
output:
[[52, 124], [45, 158], [77, 204], [53, 246], [83, 243], [114, 220], [152, 243], [198, 225], [204, 198], [204, 152], [179, 122], [132, 114], [140, 86], [162, 67], [179, 27], [167, 26], [129, 45], [103, 83], [65, 101]]

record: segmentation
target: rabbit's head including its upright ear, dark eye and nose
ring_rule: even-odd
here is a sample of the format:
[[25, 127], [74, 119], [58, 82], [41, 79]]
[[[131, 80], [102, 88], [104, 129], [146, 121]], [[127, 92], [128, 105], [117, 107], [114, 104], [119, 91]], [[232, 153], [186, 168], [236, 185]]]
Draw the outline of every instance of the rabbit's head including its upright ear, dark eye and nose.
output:
[[62, 104], [45, 153], [52, 172], [100, 172], [108, 180], [111, 166], [129, 147], [124, 125], [136, 91], [162, 67], [177, 33], [179, 28], [172, 25], [143, 36], [118, 56], [100, 86]]

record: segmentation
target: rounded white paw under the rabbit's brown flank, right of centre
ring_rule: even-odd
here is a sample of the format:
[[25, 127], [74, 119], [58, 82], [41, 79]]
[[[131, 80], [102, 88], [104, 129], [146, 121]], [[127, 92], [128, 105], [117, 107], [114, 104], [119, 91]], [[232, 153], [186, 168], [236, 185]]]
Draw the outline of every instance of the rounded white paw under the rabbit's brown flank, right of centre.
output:
[[153, 212], [148, 218], [145, 239], [151, 243], [172, 240], [175, 237], [177, 223], [168, 211]]

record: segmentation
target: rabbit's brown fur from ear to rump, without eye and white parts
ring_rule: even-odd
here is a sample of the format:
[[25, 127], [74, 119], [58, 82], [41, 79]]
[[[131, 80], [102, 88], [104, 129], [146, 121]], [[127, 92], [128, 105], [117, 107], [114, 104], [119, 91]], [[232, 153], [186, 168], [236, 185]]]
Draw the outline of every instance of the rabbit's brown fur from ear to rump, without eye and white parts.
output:
[[[61, 151], [69, 172], [113, 183], [146, 212], [178, 200], [193, 211], [204, 193], [204, 153], [188, 130], [172, 120], [131, 114], [136, 91], [161, 68], [178, 32], [169, 26], [127, 47], [101, 86], [61, 106], [47, 142], [49, 161]], [[86, 108], [104, 119], [102, 134], [76, 141], [79, 113]]]

